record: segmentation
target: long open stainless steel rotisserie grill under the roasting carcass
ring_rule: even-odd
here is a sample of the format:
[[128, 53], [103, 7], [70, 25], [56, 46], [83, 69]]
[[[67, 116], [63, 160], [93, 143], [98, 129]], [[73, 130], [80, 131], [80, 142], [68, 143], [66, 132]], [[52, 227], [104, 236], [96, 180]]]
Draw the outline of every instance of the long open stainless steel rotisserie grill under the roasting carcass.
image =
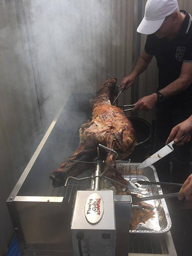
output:
[[[48, 132], [7, 200], [16, 237], [24, 255], [72, 256], [70, 229], [75, 193], [77, 190], [90, 189], [92, 183], [90, 180], [71, 180], [67, 187], [53, 188], [49, 173], [56, 169], [63, 159], [69, 157], [78, 144], [79, 127], [89, 117], [90, 98], [92, 98], [91, 93], [72, 94], [67, 105], [60, 110], [48, 128]], [[128, 166], [128, 164], [118, 164], [123, 171], [125, 165]], [[90, 164], [90, 170], [80, 177], [90, 176], [93, 170], [94, 165]], [[131, 175], [135, 174], [131, 173]], [[150, 181], [153, 180], [151, 177], [148, 178]], [[157, 190], [159, 191], [159, 188]], [[167, 222], [161, 222], [166, 229], [168, 219], [164, 217]], [[136, 232], [142, 234], [130, 234], [130, 255], [139, 253], [176, 255], [170, 232], [155, 234], [156, 238], [154, 234]]]

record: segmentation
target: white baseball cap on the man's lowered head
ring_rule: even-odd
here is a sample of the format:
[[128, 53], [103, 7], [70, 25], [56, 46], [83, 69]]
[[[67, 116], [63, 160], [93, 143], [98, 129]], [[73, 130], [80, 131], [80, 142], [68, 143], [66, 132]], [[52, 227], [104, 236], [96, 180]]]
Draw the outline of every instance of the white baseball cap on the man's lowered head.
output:
[[150, 35], [163, 24], [165, 18], [178, 8], [177, 0], [147, 0], [144, 18], [137, 32]]

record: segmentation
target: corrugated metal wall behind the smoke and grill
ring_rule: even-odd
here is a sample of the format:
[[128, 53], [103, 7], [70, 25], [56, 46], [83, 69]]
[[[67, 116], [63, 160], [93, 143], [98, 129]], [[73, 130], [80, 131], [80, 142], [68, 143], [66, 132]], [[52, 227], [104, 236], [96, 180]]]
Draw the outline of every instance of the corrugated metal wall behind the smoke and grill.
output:
[[[71, 92], [96, 91], [106, 73], [120, 83], [131, 71], [138, 1], [0, 0], [0, 255], [13, 232], [5, 201], [57, 110]], [[192, 13], [190, 0], [179, 5]], [[153, 63], [139, 97], [154, 92]], [[134, 103], [131, 88], [120, 102]]]

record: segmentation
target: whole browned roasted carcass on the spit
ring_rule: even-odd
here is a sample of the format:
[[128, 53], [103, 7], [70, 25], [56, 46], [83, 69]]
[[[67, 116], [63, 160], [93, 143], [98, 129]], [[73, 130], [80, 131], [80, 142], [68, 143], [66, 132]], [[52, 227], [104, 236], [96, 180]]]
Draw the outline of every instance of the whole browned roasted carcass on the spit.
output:
[[[60, 168], [50, 175], [53, 186], [62, 186], [68, 176], [77, 176], [90, 168], [80, 161], [93, 161], [98, 144], [118, 152], [118, 159], [128, 157], [135, 146], [136, 136], [132, 123], [120, 108], [111, 105], [117, 79], [108, 79], [92, 102], [92, 121], [80, 128], [80, 145]], [[107, 153], [106, 164], [114, 167], [114, 155]]]

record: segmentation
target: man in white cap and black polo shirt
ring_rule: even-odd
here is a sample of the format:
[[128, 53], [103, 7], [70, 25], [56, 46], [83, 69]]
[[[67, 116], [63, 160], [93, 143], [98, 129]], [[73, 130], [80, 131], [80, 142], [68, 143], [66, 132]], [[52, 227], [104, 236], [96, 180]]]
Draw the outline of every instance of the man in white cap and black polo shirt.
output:
[[[128, 89], [145, 71], [155, 55], [159, 69], [158, 91], [140, 98], [133, 110], [151, 110], [156, 105], [156, 150], [165, 146], [171, 128], [192, 113], [192, 16], [179, 11], [177, 0], [148, 0], [137, 32], [148, 35], [144, 51], [121, 87]], [[171, 181], [182, 183], [188, 176], [189, 143], [171, 155]], [[160, 181], [170, 181], [169, 156], [156, 163]], [[182, 170], [182, 173], [181, 171]]]

